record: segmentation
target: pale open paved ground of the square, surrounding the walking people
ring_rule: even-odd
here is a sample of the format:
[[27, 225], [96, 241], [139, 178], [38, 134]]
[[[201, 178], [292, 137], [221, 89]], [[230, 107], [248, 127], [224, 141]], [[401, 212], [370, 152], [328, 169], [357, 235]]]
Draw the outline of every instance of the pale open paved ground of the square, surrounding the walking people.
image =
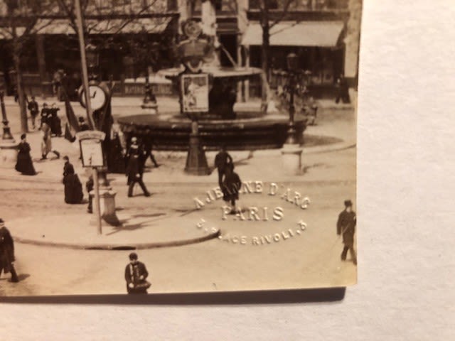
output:
[[[173, 99], [158, 101], [160, 108], [176, 106]], [[140, 114], [140, 103], [137, 97], [123, 102], [114, 98], [114, 118]], [[6, 104], [11, 131], [18, 141], [18, 107], [11, 99]], [[76, 104], [75, 111], [83, 113]], [[59, 114], [64, 124], [64, 109]], [[144, 174], [151, 197], [141, 195], [138, 188], [137, 195], [127, 197], [126, 177], [109, 174], [117, 192], [117, 215], [124, 227], [106, 233], [119, 244], [133, 234], [146, 243], [164, 235], [168, 238], [165, 241], [191, 239], [204, 235], [205, 227], [209, 231], [212, 227], [220, 230], [220, 237], [205, 241], [139, 249], [139, 260], [150, 273], [149, 293], [257, 290], [283, 288], [283, 283], [289, 288], [346, 286], [355, 281], [355, 266], [340, 260], [343, 244], [336, 235], [336, 219], [343, 210], [343, 200], [350, 198], [355, 205], [355, 114], [352, 108], [327, 103], [317, 123], [309, 126], [305, 134], [333, 137], [338, 142], [304, 148], [301, 175], [283, 172], [279, 150], [229, 151], [242, 181], [262, 181], [264, 185], [264, 193], [240, 195], [245, 221], [232, 215], [223, 220], [222, 200], [195, 210], [194, 197], [204, 200], [206, 192], [218, 185], [218, 174], [186, 175], [184, 152], [155, 151], [162, 166], [153, 168], [147, 163]], [[47, 229], [46, 233], [73, 236], [71, 239], [77, 244], [77, 234], [93, 234], [95, 226], [90, 229], [87, 204], [67, 205], [63, 200], [64, 161], [38, 162], [40, 139], [39, 131], [28, 134], [38, 175], [28, 177], [14, 169], [0, 170], [0, 217], [14, 237], [16, 228], [23, 239], [37, 239]], [[77, 146], [63, 138], [53, 138], [53, 146], [70, 157], [85, 183], [87, 173], [78, 161]], [[208, 152], [207, 158], [212, 165], [215, 152]], [[277, 195], [267, 195], [271, 183], [277, 183]], [[304, 210], [284, 200], [281, 195], [287, 188], [309, 197], [309, 207]], [[270, 217], [274, 207], [282, 207], [284, 217], [279, 222], [265, 221], [262, 212], [261, 221], [249, 220], [249, 207], [269, 207]], [[201, 222], [203, 227], [198, 227]], [[305, 222], [304, 229], [299, 230], [299, 222]], [[156, 229], [149, 229], [153, 224]], [[62, 233], [65, 229], [71, 232]], [[45, 238], [53, 237], [48, 234]], [[21, 281], [11, 283], [9, 276], [3, 274], [0, 296], [126, 292], [123, 276], [128, 250], [82, 250], [18, 240], [15, 247]]]

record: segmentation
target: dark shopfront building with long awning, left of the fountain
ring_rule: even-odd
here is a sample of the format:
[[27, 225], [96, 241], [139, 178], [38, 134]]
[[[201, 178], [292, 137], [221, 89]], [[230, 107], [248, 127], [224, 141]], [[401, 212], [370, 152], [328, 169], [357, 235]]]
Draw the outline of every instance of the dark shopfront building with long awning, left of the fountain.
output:
[[[74, 1], [12, 2], [10, 7], [4, 1], [0, 5], [0, 82], [7, 92], [14, 92], [11, 26], [21, 42], [26, 94], [50, 94], [58, 70], [78, 86], [80, 50]], [[178, 28], [175, 0], [82, 0], [81, 4], [86, 40], [97, 46], [103, 80], [116, 80], [120, 85], [127, 78], [144, 76], [145, 65], [171, 66], [168, 61], [173, 59], [172, 41]], [[114, 90], [124, 92], [121, 86]]]

